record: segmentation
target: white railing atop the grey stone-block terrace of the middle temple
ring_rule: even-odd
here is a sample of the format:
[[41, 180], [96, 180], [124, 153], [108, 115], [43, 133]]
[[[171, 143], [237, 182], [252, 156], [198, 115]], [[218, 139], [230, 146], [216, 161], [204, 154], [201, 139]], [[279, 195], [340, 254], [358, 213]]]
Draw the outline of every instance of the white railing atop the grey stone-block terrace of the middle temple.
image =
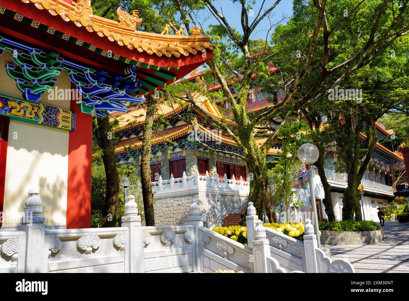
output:
[[199, 172], [196, 172], [195, 175], [191, 176], [187, 176], [186, 173], [183, 172], [182, 177], [178, 178], [173, 177], [173, 174], [171, 174], [169, 180], [162, 180], [162, 176], [159, 176], [159, 180], [152, 182], [152, 185], [153, 192], [181, 188], [209, 188], [240, 192], [248, 192], [250, 190], [250, 182], [244, 181], [241, 176], [240, 179], [236, 179], [234, 175], [231, 179], [227, 179], [226, 174], [222, 178], [220, 178], [218, 174], [211, 177], [208, 171], [206, 171], [205, 175], [200, 175]]

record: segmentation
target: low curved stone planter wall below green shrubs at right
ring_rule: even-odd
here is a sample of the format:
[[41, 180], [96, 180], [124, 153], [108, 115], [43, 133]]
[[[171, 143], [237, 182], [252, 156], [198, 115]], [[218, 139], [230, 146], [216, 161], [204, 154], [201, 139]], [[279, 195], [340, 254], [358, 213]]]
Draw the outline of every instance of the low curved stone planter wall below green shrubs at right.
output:
[[362, 245], [384, 241], [382, 230], [376, 231], [327, 231], [321, 230], [322, 245]]

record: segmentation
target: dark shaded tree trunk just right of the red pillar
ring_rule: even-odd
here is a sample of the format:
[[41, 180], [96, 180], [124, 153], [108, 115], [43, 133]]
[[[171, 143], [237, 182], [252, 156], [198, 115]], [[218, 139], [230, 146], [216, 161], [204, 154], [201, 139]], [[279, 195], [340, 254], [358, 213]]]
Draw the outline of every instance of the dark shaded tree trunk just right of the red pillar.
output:
[[[107, 112], [104, 112], [108, 115]], [[117, 222], [117, 209], [119, 201], [119, 176], [115, 148], [112, 145], [112, 128], [109, 117], [97, 118], [98, 144], [103, 150], [102, 160], [106, 175], [106, 194], [103, 207], [102, 227], [115, 227]], [[109, 135], [109, 136], [108, 136]]]

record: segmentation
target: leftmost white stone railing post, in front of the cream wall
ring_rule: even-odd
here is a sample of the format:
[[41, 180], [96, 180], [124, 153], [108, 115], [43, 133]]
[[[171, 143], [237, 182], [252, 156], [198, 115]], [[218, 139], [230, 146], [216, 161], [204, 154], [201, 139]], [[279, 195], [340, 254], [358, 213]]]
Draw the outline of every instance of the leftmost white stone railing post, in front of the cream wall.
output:
[[20, 219], [20, 230], [26, 233], [26, 273], [46, 273], [48, 254], [45, 254], [45, 216], [40, 193], [31, 190], [24, 203], [24, 216]]

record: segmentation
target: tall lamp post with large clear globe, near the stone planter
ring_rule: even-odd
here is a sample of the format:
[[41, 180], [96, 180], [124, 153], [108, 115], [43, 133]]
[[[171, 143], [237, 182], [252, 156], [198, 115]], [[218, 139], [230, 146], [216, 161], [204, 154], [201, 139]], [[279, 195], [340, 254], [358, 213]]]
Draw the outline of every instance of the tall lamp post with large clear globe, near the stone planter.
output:
[[317, 204], [315, 204], [314, 182], [312, 180], [312, 164], [317, 162], [319, 151], [317, 146], [311, 143], [301, 145], [297, 151], [298, 159], [301, 163], [308, 166], [308, 181], [310, 181], [310, 204], [312, 204], [312, 215], [314, 218], [315, 235], [317, 236], [318, 247], [321, 249], [321, 240], [319, 238]]

